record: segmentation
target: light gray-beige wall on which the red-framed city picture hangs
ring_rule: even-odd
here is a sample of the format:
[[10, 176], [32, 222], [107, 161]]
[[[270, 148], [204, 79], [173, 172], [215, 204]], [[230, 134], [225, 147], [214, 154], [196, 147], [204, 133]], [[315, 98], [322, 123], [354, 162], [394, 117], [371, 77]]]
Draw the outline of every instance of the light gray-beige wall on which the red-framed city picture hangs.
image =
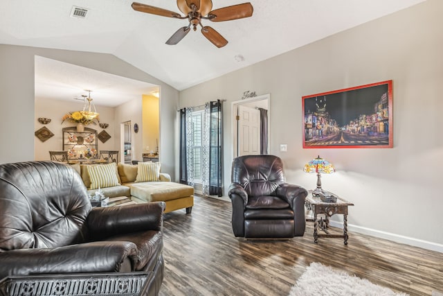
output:
[[[302, 167], [320, 155], [337, 171], [323, 175], [323, 188], [355, 204], [351, 230], [443, 252], [442, 11], [443, 1], [428, 0], [183, 90], [180, 107], [227, 100], [225, 195], [232, 102], [246, 90], [271, 94], [270, 152], [282, 157], [289, 182], [314, 189], [315, 175]], [[302, 149], [302, 96], [384, 80], [393, 80], [394, 148]], [[280, 152], [280, 143], [287, 152]]]

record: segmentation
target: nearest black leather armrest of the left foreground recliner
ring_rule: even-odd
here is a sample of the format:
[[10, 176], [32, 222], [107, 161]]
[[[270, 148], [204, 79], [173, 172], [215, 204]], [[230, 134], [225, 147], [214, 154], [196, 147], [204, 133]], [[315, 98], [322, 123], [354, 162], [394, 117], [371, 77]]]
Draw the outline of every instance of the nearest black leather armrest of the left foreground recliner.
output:
[[136, 253], [136, 245], [128, 241], [9, 250], [0, 252], [0, 278], [48, 273], [118, 272], [127, 259], [134, 271]]

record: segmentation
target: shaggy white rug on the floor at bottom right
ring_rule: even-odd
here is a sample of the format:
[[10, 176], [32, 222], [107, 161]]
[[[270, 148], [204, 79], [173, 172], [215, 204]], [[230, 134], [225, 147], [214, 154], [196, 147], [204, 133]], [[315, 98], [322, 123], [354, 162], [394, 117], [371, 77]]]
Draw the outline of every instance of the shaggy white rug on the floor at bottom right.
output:
[[407, 294], [394, 293], [388, 288], [372, 284], [367, 279], [360, 279], [341, 270], [314, 262], [306, 268], [305, 273], [301, 275], [297, 284], [289, 292], [289, 296], [307, 295], [404, 296]]

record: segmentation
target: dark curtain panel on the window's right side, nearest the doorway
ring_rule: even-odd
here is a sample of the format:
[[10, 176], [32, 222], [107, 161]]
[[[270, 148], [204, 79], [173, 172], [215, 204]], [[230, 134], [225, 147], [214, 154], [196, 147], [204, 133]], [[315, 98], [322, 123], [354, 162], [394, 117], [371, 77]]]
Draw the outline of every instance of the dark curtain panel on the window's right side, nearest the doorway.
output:
[[223, 110], [222, 102], [210, 102], [209, 195], [223, 195]]

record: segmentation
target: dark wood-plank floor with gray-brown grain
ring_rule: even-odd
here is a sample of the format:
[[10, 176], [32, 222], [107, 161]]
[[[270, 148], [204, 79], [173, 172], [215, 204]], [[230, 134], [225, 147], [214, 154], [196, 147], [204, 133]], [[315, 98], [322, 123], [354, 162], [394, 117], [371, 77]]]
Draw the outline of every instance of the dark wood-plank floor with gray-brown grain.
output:
[[[352, 214], [352, 213], [351, 213]], [[287, 295], [311, 262], [345, 270], [410, 295], [443, 290], [443, 253], [350, 232], [319, 238], [312, 223], [305, 236], [287, 241], [246, 241], [230, 226], [230, 202], [195, 197], [192, 214], [165, 214], [162, 296]]]

